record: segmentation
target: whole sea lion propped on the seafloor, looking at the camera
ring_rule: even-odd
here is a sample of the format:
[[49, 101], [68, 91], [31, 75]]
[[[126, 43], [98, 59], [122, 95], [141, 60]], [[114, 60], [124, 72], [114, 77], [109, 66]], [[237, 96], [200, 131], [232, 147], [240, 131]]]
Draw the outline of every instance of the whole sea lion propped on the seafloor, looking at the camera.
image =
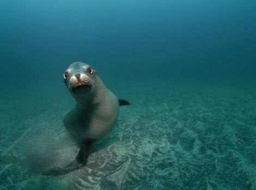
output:
[[63, 175], [86, 164], [88, 148], [112, 131], [117, 123], [119, 106], [130, 105], [118, 100], [105, 87], [96, 71], [83, 62], [74, 62], [63, 74], [64, 83], [77, 104], [64, 117], [64, 126], [72, 136], [80, 140], [76, 159], [63, 168], [53, 167], [43, 175]]

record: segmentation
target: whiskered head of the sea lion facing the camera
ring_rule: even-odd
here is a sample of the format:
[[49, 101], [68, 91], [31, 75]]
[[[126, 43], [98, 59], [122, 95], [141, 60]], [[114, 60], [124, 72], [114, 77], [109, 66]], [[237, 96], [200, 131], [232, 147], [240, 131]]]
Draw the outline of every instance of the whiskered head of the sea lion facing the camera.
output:
[[74, 62], [63, 74], [64, 83], [71, 94], [90, 92], [95, 83], [94, 69], [83, 62]]

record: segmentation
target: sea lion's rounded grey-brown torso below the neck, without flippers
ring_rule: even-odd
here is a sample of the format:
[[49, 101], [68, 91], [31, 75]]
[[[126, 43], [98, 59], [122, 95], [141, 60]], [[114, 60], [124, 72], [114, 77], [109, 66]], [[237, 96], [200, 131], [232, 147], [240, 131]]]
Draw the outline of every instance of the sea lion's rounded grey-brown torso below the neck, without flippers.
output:
[[101, 88], [103, 96], [97, 103], [86, 105], [77, 103], [75, 109], [64, 117], [65, 128], [71, 135], [81, 140], [86, 138], [101, 140], [114, 128], [119, 115], [119, 102], [103, 83]]

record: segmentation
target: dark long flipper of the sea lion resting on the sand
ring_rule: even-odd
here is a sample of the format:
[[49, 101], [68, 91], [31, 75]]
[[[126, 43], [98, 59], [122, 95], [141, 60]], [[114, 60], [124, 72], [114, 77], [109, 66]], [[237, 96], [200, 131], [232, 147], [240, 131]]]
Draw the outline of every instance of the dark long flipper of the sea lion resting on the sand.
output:
[[82, 168], [87, 162], [88, 148], [92, 143], [93, 143], [92, 140], [87, 140], [86, 142], [82, 143], [81, 148], [76, 156], [76, 159], [70, 164], [68, 164], [67, 166], [53, 167], [51, 169], [48, 169], [42, 172], [42, 175], [50, 175], [50, 176], [65, 175], [77, 169]]

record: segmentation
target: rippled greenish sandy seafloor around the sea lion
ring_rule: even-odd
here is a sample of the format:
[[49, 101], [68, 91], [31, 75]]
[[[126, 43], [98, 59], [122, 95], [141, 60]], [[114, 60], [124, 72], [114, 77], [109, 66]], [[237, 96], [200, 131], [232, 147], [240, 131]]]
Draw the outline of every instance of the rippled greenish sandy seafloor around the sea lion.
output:
[[112, 134], [86, 167], [43, 176], [78, 152], [62, 123], [75, 102], [56, 86], [1, 93], [0, 189], [256, 189], [255, 88], [108, 85], [132, 103]]

